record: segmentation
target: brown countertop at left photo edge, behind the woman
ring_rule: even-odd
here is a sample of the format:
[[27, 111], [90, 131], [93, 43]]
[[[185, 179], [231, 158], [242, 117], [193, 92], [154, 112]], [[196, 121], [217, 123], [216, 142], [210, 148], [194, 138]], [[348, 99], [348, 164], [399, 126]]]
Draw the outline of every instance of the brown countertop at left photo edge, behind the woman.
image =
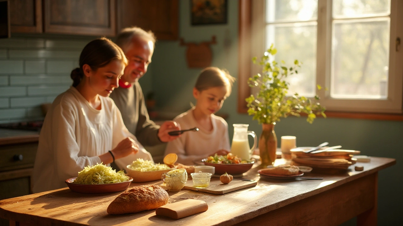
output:
[[38, 142], [38, 140], [38, 131], [0, 129], [0, 145]]

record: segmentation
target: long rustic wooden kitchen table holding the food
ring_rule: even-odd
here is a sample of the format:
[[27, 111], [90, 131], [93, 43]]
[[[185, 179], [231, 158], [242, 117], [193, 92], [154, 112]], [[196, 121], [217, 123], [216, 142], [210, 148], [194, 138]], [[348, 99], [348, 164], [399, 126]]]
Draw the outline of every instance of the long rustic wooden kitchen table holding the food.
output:
[[[109, 203], [120, 194], [81, 194], [68, 188], [0, 201], [0, 217], [10, 225], [339, 225], [358, 216], [360, 225], [376, 225], [378, 171], [395, 164], [392, 158], [371, 157], [364, 171], [350, 166], [346, 173], [307, 173], [323, 180], [260, 179], [256, 187], [213, 195], [197, 191], [169, 192], [169, 202], [199, 199], [208, 210], [172, 220], [155, 210], [108, 215]], [[259, 179], [256, 165], [244, 178]], [[152, 184], [160, 184], [154, 181]], [[140, 185], [132, 183], [132, 186]], [[19, 224], [19, 222], [21, 224]]]

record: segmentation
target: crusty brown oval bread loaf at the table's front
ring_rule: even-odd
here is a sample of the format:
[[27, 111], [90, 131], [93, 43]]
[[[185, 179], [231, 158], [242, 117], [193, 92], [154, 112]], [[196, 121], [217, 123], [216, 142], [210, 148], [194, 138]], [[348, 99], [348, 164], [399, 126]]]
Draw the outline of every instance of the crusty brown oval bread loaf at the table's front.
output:
[[141, 185], [121, 193], [108, 206], [108, 214], [129, 214], [154, 210], [168, 203], [168, 193], [158, 185]]

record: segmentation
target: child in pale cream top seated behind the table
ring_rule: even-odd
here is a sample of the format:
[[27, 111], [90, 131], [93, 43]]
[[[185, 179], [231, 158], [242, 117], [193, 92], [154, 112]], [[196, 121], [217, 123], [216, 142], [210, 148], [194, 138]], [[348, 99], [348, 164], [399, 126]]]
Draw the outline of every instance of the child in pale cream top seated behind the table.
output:
[[193, 88], [195, 107], [178, 115], [174, 121], [182, 129], [198, 127], [197, 132], [186, 132], [176, 140], [168, 142], [165, 155], [176, 153], [178, 163], [194, 164], [210, 155], [224, 155], [230, 151], [228, 124], [222, 117], [214, 115], [221, 109], [224, 100], [231, 94], [235, 78], [219, 68], [205, 68]]

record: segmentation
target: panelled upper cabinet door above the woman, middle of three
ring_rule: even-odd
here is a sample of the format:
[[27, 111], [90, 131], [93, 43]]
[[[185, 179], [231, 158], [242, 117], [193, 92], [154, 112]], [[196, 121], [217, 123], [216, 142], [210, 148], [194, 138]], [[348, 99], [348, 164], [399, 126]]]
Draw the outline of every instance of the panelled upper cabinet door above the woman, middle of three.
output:
[[115, 0], [44, 0], [44, 31], [116, 35]]

